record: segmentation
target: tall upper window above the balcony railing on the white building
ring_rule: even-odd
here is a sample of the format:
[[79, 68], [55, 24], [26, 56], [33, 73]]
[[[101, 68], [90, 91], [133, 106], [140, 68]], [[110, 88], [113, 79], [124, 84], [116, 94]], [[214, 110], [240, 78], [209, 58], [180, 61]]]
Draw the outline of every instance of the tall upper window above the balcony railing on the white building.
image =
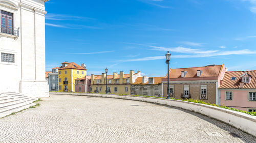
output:
[[1, 32], [13, 35], [13, 14], [1, 10]]

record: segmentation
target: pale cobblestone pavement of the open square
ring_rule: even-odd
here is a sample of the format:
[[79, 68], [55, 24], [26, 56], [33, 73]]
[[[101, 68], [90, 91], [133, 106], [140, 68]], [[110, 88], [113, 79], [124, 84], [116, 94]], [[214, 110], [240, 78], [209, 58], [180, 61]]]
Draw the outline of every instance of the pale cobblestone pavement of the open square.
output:
[[36, 108], [0, 119], [0, 142], [256, 142], [227, 124], [179, 108], [84, 96], [42, 100]]

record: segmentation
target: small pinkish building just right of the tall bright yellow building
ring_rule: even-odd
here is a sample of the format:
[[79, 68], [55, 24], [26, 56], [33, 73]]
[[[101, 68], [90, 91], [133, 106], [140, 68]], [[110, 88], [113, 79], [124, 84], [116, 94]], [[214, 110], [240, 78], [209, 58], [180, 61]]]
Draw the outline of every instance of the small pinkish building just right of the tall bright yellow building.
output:
[[75, 79], [75, 92], [92, 92], [91, 76]]

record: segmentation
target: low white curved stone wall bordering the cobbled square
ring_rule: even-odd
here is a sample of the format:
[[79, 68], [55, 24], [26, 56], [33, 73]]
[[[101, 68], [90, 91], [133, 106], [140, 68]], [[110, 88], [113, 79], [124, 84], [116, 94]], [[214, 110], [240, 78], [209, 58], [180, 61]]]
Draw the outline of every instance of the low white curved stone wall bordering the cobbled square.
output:
[[256, 136], [256, 116], [251, 116], [243, 112], [233, 111], [233, 110], [215, 107], [211, 105], [198, 104], [198, 103], [180, 101], [180, 100], [166, 100], [163, 98], [151, 98], [151, 97], [128, 96], [128, 95], [60, 93], [60, 92], [55, 92], [55, 93], [51, 92], [50, 94], [118, 98], [118, 99], [144, 101], [144, 102], [179, 107], [185, 110], [201, 113], [202, 115], [222, 121], [242, 131], [245, 131], [253, 136]]

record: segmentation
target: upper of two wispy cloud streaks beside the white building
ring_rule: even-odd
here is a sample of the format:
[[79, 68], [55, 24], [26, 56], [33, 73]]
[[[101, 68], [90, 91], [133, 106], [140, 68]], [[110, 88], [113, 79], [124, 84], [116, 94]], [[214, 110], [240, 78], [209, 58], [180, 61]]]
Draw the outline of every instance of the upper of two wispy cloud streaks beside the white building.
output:
[[46, 19], [48, 20], [96, 20], [95, 18], [91, 18], [91, 17], [73, 16], [73, 15], [65, 15], [65, 14], [53, 14], [53, 13], [47, 14]]

